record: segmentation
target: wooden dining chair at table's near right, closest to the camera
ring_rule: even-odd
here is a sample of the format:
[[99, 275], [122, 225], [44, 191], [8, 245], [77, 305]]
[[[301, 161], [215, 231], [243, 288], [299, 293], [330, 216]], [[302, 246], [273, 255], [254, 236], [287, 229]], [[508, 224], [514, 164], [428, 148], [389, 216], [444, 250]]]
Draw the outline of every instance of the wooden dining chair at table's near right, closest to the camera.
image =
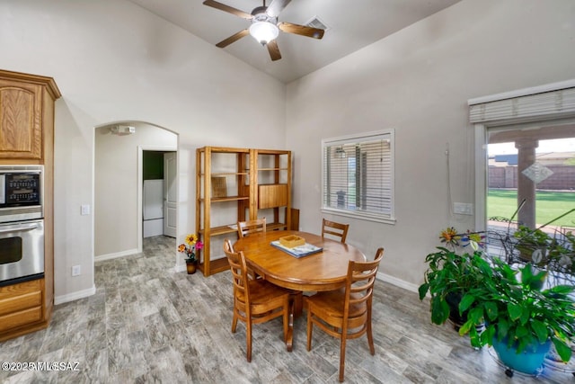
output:
[[376, 273], [383, 256], [384, 248], [379, 248], [373, 261], [349, 261], [344, 288], [304, 297], [307, 308], [307, 351], [312, 349], [314, 325], [328, 335], [339, 338], [340, 381], [343, 381], [345, 345], [348, 339], [367, 334], [369, 352], [372, 355], [376, 353], [371, 333], [371, 308]]

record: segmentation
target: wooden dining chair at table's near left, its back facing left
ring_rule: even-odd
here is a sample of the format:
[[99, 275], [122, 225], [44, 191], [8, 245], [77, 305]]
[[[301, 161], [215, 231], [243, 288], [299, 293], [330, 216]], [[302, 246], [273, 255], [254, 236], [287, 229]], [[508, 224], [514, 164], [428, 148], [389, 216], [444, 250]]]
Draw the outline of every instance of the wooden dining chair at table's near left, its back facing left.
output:
[[224, 240], [224, 252], [232, 270], [234, 281], [234, 317], [232, 333], [237, 321], [245, 323], [246, 358], [252, 362], [252, 325], [283, 317], [284, 342], [288, 340], [289, 290], [284, 290], [263, 279], [249, 277], [243, 252], [234, 252], [230, 240]]

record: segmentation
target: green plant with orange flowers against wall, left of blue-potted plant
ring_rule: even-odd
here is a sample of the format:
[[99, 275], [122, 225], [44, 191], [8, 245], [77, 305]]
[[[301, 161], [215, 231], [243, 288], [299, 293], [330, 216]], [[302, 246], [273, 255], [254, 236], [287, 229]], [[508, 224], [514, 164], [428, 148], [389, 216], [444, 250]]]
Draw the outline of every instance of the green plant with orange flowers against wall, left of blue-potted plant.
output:
[[[478, 234], [458, 235], [452, 227], [443, 230], [439, 238], [450, 249], [438, 246], [438, 252], [427, 255], [425, 262], [429, 268], [424, 274], [419, 294], [422, 300], [429, 293], [431, 321], [434, 324], [444, 324], [449, 318], [457, 329], [466, 321], [466, 314], [458, 309], [460, 300], [468, 290], [482, 284], [491, 267], [479, 250], [481, 237]], [[456, 250], [460, 250], [458, 247], [462, 243], [471, 246], [473, 252], [459, 255]]]

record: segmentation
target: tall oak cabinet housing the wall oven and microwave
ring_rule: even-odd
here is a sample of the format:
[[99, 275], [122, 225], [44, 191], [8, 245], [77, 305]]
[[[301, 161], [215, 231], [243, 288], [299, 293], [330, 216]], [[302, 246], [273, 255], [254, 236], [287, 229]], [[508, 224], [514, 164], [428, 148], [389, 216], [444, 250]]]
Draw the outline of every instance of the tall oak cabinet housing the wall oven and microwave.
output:
[[0, 288], [0, 341], [45, 328], [54, 306], [54, 103], [60, 96], [51, 77], [0, 70], [0, 165], [44, 165], [44, 278]]

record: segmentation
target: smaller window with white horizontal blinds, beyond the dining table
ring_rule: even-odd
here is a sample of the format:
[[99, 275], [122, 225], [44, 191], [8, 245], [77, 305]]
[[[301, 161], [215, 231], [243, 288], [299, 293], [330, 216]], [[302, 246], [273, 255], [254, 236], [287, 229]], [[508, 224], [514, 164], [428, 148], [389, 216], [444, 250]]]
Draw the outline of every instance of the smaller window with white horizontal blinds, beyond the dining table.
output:
[[323, 210], [394, 220], [394, 132], [322, 141]]

